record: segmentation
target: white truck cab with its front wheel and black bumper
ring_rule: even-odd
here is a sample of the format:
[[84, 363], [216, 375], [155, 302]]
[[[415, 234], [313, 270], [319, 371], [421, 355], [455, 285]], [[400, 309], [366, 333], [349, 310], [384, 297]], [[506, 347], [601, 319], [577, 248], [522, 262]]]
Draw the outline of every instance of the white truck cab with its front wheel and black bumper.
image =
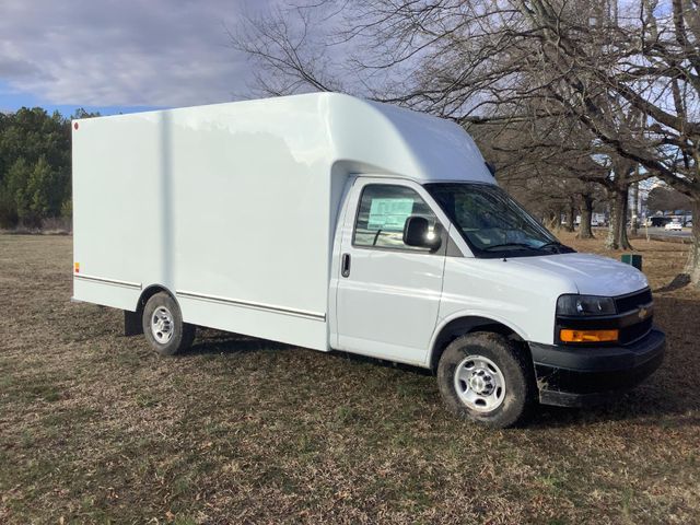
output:
[[562, 245], [495, 184], [361, 175], [341, 217], [332, 348], [432, 369], [458, 415], [605, 401], [663, 359], [643, 273]]

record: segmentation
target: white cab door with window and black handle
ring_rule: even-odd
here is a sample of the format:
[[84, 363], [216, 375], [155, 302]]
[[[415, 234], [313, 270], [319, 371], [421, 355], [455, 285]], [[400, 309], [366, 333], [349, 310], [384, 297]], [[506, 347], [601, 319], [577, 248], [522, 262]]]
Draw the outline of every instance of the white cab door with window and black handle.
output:
[[408, 246], [404, 225], [428, 219], [430, 197], [406, 180], [358, 178], [343, 225], [336, 293], [337, 348], [422, 365], [438, 322], [446, 230], [438, 249]]

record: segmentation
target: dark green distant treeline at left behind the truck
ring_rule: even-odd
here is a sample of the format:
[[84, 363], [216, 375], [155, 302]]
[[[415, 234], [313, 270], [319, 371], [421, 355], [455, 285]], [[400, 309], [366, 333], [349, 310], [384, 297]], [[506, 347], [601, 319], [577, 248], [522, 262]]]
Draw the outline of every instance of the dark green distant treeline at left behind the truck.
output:
[[0, 113], [0, 228], [42, 228], [71, 217], [71, 118], [40, 107]]

